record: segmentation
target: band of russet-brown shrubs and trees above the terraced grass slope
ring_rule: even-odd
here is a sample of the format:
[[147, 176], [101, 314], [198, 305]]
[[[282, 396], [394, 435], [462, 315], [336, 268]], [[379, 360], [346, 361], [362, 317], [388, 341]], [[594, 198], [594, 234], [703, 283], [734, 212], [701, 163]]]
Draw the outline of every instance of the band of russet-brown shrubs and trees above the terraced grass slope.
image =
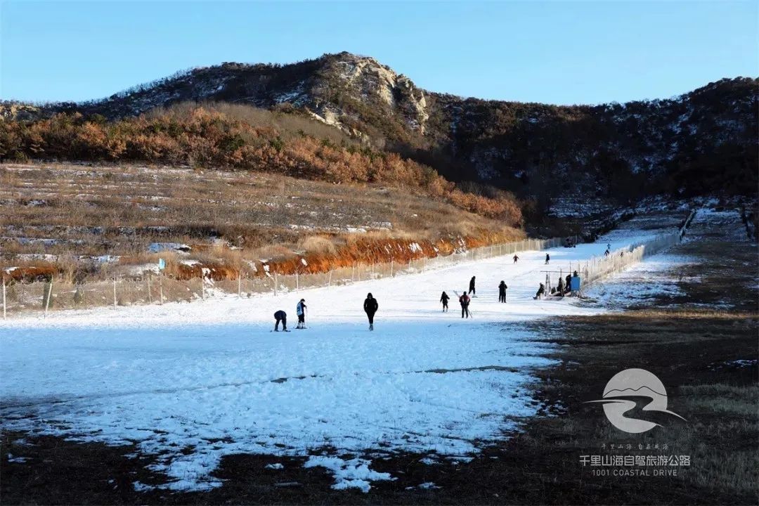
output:
[[0, 160], [32, 158], [232, 168], [335, 184], [384, 184], [521, 225], [521, 209], [509, 193], [464, 192], [430, 167], [359, 146], [335, 128], [247, 106], [184, 105], [114, 122], [79, 113], [0, 122]]

